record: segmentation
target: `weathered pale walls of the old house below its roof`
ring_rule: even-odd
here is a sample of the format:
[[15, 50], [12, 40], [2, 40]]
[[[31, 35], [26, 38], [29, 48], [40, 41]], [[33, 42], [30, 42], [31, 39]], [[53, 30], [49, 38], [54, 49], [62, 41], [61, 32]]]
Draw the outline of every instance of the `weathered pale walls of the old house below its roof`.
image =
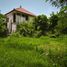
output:
[[22, 22], [31, 22], [33, 20], [32, 16], [28, 15], [29, 19], [26, 20], [25, 17], [22, 16], [22, 14], [20, 15], [16, 14], [16, 22], [13, 22], [13, 13], [17, 13], [17, 12], [14, 11], [6, 15], [7, 18], [9, 19], [9, 21], [7, 22], [7, 28], [8, 28], [9, 33], [16, 31], [17, 24], [22, 23]]

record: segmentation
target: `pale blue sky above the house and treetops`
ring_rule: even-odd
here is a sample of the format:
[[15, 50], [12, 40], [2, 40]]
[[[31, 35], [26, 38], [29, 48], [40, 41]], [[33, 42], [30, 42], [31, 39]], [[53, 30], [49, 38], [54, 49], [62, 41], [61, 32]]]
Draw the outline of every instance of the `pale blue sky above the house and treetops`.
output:
[[52, 12], [59, 11], [45, 0], [0, 0], [0, 12], [5, 14], [20, 5], [35, 15], [45, 14], [49, 17]]

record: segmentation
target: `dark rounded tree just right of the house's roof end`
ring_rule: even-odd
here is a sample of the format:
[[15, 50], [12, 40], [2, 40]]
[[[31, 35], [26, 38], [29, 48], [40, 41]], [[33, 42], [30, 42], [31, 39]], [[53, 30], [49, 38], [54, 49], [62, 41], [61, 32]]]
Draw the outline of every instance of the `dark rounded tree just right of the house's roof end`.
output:
[[35, 30], [41, 31], [41, 35], [45, 35], [48, 30], [48, 19], [45, 15], [39, 15], [34, 19]]

